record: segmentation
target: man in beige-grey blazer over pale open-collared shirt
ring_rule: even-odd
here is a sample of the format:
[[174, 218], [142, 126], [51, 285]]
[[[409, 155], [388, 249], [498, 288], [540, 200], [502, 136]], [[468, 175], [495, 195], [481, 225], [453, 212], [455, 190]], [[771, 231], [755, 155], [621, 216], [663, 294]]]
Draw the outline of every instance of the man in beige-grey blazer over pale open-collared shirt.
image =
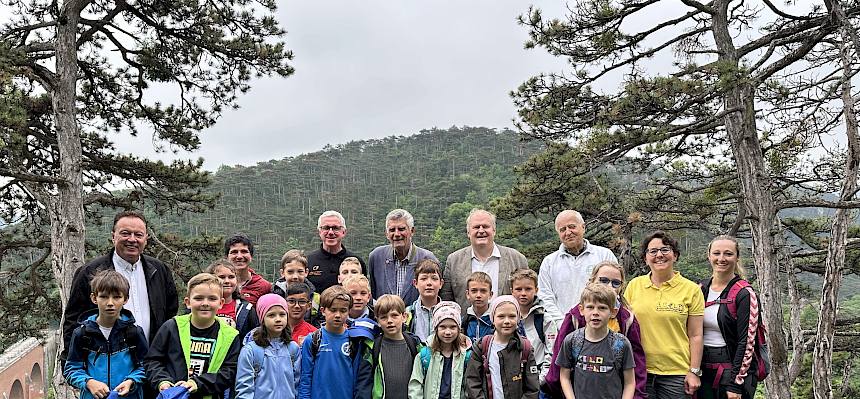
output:
[[493, 282], [493, 296], [510, 295], [508, 276], [516, 269], [528, 267], [528, 261], [516, 249], [497, 245], [496, 215], [483, 209], [472, 209], [466, 218], [466, 234], [471, 245], [448, 255], [445, 261], [442, 291], [444, 301], [456, 301], [460, 308], [469, 307], [466, 301], [466, 279], [472, 272], [484, 272]]

